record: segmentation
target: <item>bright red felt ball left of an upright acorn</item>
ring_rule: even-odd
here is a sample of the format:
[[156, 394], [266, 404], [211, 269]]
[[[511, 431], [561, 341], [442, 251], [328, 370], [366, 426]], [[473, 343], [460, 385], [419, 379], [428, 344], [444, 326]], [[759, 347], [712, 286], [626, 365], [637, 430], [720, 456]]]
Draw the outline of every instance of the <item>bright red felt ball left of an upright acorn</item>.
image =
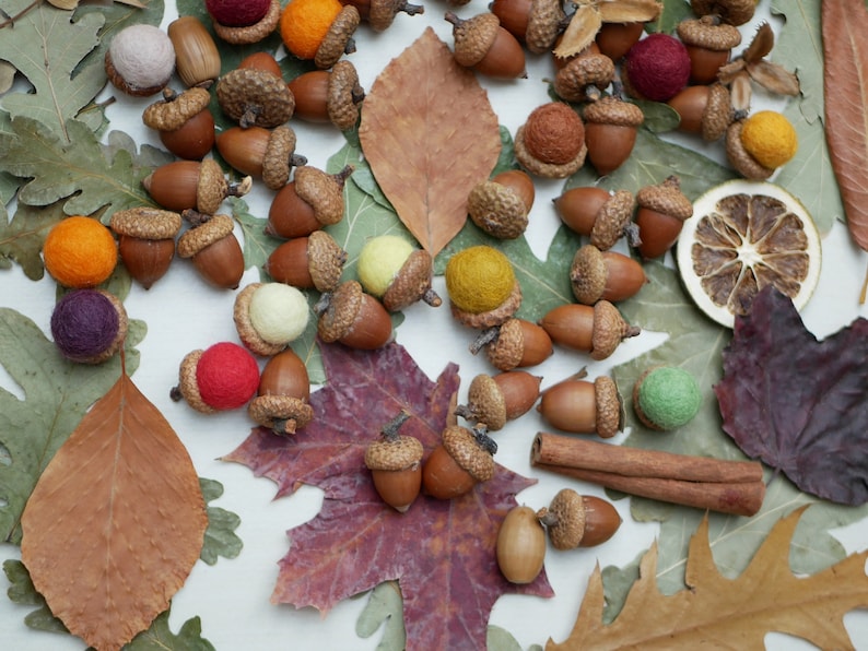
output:
[[202, 402], [210, 407], [238, 409], [259, 387], [259, 366], [247, 348], [232, 342], [216, 343], [199, 358], [196, 384]]

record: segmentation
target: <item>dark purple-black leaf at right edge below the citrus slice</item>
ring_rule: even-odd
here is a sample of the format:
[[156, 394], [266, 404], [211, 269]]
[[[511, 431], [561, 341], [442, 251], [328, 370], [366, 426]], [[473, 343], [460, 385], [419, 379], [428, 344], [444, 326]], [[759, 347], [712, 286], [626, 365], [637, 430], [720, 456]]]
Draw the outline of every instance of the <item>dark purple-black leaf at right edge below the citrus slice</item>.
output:
[[763, 289], [736, 319], [715, 387], [724, 430], [802, 490], [868, 501], [868, 320], [820, 342], [793, 301]]

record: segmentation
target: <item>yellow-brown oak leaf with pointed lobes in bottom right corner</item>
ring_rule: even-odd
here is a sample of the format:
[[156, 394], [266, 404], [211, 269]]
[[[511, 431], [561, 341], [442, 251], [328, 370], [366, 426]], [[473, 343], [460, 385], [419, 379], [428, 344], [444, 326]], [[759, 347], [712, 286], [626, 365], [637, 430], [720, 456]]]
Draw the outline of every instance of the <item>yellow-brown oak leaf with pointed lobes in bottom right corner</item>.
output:
[[[723, 577], [708, 546], [703, 520], [690, 543], [688, 589], [670, 596], [657, 589], [657, 545], [645, 554], [640, 579], [623, 611], [602, 624], [603, 591], [599, 567], [588, 582], [575, 626], [558, 649], [761, 649], [770, 631], [786, 632], [822, 649], [852, 648], [844, 615], [868, 606], [868, 552], [853, 554], [828, 570], [797, 578], [789, 568], [789, 542], [802, 510], [781, 520], [748, 568], [736, 580]], [[810, 616], [806, 616], [809, 613]]]

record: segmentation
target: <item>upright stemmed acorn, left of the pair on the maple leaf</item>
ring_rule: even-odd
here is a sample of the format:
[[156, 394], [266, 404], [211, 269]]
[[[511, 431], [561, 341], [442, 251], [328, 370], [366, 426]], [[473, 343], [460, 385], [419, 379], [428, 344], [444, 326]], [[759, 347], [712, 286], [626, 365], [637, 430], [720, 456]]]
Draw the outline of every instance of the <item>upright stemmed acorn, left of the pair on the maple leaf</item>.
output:
[[424, 448], [413, 436], [400, 435], [410, 414], [401, 412], [380, 430], [379, 439], [365, 450], [365, 465], [371, 471], [374, 488], [387, 505], [404, 513], [422, 488]]

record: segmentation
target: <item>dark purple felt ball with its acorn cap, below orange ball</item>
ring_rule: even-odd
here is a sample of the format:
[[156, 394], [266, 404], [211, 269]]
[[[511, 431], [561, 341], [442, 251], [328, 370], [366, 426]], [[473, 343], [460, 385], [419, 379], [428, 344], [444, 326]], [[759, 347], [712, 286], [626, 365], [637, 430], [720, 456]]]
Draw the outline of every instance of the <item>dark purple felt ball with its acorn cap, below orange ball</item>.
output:
[[91, 364], [110, 357], [117, 348], [120, 329], [121, 315], [116, 303], [98, 289], [70, 292], [51, 312], [55, 344], [73, 362]]

